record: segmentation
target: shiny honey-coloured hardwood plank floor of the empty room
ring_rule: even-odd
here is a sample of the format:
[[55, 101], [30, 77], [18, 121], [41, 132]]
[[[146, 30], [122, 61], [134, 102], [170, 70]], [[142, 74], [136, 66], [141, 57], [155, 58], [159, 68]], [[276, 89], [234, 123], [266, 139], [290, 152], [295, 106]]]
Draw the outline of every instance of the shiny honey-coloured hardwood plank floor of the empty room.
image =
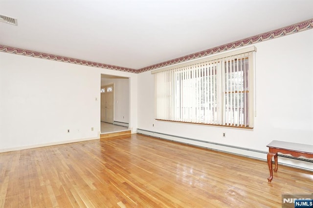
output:
[[281, 207], [313, 173], [144, 135], [0, 153], [0, 207]]

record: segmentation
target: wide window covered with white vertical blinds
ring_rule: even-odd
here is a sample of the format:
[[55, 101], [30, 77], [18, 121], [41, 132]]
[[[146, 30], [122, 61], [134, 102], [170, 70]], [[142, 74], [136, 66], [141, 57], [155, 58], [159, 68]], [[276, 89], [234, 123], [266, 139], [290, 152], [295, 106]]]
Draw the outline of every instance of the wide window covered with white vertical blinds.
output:
[[153, 71], [156, 119], [253, 127], [254, 46]]

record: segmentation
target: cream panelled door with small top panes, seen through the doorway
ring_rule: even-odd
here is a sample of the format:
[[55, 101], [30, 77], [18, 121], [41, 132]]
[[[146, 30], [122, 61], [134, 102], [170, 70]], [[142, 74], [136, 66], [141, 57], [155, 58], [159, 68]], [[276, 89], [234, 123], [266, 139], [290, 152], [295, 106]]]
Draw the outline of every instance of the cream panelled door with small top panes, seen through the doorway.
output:
[[101, 121], [113, 124], [114, 88], [112, 85], [101, 87]]

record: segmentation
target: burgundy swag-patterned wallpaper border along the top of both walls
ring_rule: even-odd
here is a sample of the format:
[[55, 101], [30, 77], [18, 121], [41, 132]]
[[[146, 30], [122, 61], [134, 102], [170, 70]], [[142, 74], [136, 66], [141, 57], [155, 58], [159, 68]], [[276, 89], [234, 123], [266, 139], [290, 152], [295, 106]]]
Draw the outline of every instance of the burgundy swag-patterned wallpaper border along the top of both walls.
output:
[[6, 52], [6, 53], [11, 53], [11, 54], [17, 54], [17, 55], [24, 55], [28, 57], [35, 57], [35, 58], [40, 58], [40, 59], [46, 59], [46, 60], [53, 60], [53, 61], [59, 61], [59, 62], [67, 62], [67, 63], [74, 63], [74, 64], [80, 64], [80, 65], [86, 65], [86, 66], [93, 66], [93, 67], [98, 67], [98, 68], [104, 68], [104, 69], [112, 69], [116, 71], [124, 71], [124, 72], [131, 72], [131, 73], [142, 73], [145, 71], [150, 71], [156, 68], [172, 65], [175, 63], [180, 63], [180, 62], [185, 62], [201, 57], [205, 57], [208, 55], [212, 55], [215, 53], [219, 53], [222, 51], [234, 49], [234, 48], [239, 48], [242, 46], [254, 44], [257, 42], [263, 42], [263, 41], [268, 41], [274, 38], [279, 38], [279, 37], [284, 37], [286, 35], [291, 35], [297, 32], [309, 30], [313, 28], [313, 19], [307, 20], [307, 21], [301, 21], [286, 27], [282, 27], [276, 30], [272, 30], [269, 32], [265, 32], [259, 35], [251, 36], [249, 38], [245, 38], [239, 41], [235, 42], [230, 42], [226, 43], [214, 48], [206, 49], [204, 51], [200, 51], [197, 53], [189, 54], [183, 57], [179, 57], [176, 59], [172, 59], [166, 62], [160, 62], [154, 65], [150, 65], [144, 68], [140, 69], [133, 69], [133, 68], [127, 68], [127, 67], [122, 67], [122, 66], [115, 66], [115, 65], [110, 65], [106, 63], [98, 63], [98, 62], [89, 62], [85, 60], [80, 60], [80, 59], [75, 59], [75, 58], [68, 58], [64, 56], [58, 56], [58, 55], [53, 55], [53, 54], [48, 54], [48, 53], [41, 53], [37, 51], [31, 51], [27, 49], [21, 49], [21, 48], [16, 48], [16, 47], [10, 47], [6, 45], [1, 45], [0, 44], [0, 52]]

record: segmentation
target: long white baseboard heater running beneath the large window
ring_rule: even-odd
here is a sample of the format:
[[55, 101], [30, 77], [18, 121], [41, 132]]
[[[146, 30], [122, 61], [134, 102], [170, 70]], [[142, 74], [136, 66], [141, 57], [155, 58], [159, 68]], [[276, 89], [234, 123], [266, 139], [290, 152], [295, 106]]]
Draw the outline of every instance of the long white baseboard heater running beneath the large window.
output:
[[[227, 152], [231, 154], [242, 155], [242, 156], [249, 157], [249, 158], [267, 161], [268, 152], [266, 151], [249, 149], [249, 148], [244, 148], [240, 146], [230, 146], [230, 145], [224, 145], [224, 144], [219, 144], [219, 143], [201, 141], [201, 140], [180, 137], [180, 136], [175, 136], [175, 135], [169, 135], [169, 134], [164, 134], [160, 132], [154, 132], [154, 131], [149, 131], [149, 130], [144, 130], [144, 129], [139, 129], [139, 128], [137, 129], [137, 133], [156, 137], [159, 139], [170, 140], [170, 141], [184, 143], [184, 144], [188, 144], [192, 146], [200, 146], [200, 147], [204, 147], [208, 149], [213, 149], [217, 151], [222, 151], [222, 152]], [[279, 154], [278, 163], [285, 165], [285, 166], [291, 166], [291, 167], [313, 171], [313, 160], [308, 159], [308, 158], [303, 158], [303, 157], [295, 158], [292, 156]], [[265, 164], [265, 166], [268, 166], [267, 163]]]

